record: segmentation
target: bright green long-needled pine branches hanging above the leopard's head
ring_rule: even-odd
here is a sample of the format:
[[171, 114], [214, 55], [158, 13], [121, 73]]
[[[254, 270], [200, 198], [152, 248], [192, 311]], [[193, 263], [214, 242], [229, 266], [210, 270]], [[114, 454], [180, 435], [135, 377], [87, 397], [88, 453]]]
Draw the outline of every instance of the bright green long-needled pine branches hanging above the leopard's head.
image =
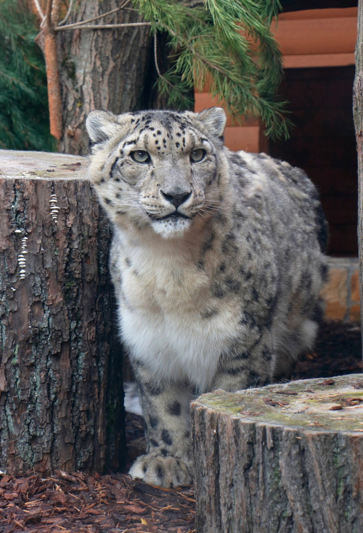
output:
[[207, 82], [232, 116], [260, 117], [267, 136], [288, 137], [285, 102], [277, 97], [281, 52], [270, 31], [281, 9], [278, 0], [134, 0], [134, 5], [151, 22], [152, 33], [166, 32], [178, 51], [158, 80], [168, 105], [190, 108], [185, 94]]

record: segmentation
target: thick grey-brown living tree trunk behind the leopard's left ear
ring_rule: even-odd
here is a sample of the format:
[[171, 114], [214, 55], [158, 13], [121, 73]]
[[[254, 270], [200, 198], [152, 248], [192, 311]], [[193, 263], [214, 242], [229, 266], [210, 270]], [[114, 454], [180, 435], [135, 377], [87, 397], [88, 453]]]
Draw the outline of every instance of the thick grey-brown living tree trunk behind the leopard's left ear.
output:
[[[67, 24], [97, 17], [115, 9], [119, 1], [78, 0], [75, 4]], [[94, 23], [140, 21], [137, 11], [124, 9]], [[85, 154], [88, 136], [84, 124], [90, 111], [122, 113], [146, 107], [154, 84], [148, 78], [148, 64], [154, 61], [150, 27], [75, 29], [57, 34], [64, 129], [60, 150]]]

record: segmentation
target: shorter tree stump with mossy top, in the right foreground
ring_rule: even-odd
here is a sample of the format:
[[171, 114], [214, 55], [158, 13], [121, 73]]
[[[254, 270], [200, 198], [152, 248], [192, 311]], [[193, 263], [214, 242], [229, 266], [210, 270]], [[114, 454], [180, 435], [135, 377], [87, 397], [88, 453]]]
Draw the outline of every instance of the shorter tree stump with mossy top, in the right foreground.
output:
[[363, 376], [192, 403], [197, 533], [363, 531]]

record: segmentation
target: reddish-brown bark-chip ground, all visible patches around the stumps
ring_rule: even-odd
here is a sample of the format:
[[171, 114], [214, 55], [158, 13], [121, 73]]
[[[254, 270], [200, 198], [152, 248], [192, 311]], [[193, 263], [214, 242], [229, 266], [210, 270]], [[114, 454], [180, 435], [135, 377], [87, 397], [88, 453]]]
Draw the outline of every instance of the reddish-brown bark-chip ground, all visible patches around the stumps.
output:
[[[316, 349], [297, 363], [293, 379], [361, 371], [359, 324], [326, 322]], [[130, 466], [144, 448], [140, 416], [127, 415], [126, 435]], [[0, 533], [194, 533], [194, 523], [192, 487], [160, 489], [114, 473], [0, 474]]]

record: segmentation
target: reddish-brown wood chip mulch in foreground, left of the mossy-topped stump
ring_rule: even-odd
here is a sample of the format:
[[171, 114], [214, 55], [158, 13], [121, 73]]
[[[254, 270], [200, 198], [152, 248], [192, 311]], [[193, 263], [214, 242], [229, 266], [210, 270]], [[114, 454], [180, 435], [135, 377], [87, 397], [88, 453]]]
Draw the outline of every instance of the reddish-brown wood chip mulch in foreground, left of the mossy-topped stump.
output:
[[122, 474], [0, 477], [1, 533], [195, 533], [194, 521], [190, 488], [160, 489]]

